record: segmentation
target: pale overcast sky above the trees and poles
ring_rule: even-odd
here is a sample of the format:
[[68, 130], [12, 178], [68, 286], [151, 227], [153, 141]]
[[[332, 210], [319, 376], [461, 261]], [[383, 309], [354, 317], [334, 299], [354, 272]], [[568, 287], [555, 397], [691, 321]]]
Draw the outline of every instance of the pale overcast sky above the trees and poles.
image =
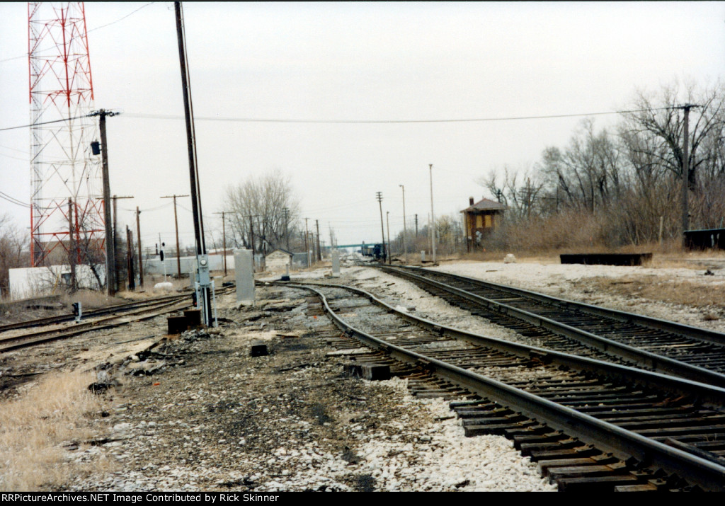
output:
[[[138, 12], [134, 12], [138, 9]], [[379, 241], [431, 210], [491, 197], [477, 181], [566, 146], [581, 117], [467, 123], [258, 123], [459, 120], [575, 115], [631, 106], [637, 89], [700, 84], [725, 70], [725, 2], [184, 3], [204, 227], [220, 241], [225, 187], [279, 169], [302, 217], [339, 244]], [[131, 14], [133, 12], [133, 14]], [[128, 15], [130, 14], [130, 15]], [[28, 7], [0, 4], [0, 128], [26, 125]], [[128, 17], [127, 17], [128, 16]], [[141, 240], [173, 243], [188, 194], [186, 128], [170, 2], [86, 2], [96, 109], [107, 120], [119, 223], [141, 208]], [[111, 23], [111, 24], [109, 24]], [[141, 117], [150, 115], [152, 117]], [[173, 116], [175, 119], [157, 119]], [[595, 117], [597, 129], [616, 115]], [[30, 130], [0, 131], [1, 191], [30, 201]], [[191, 203], [179, 228], [193, 244]], [[145, 212], [144, 212], [145, 210]], [[0, 215], [29, 228], [28, 211]], [[303, 222], [304, 223], [304, 222]], [[409, 225], [409, 226], [410, 226]]]

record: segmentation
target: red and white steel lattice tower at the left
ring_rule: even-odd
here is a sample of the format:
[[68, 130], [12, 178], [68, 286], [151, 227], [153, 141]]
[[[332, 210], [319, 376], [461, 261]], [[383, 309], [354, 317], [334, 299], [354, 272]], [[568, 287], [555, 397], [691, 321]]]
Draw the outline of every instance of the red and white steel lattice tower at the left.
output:
[[70, 260], [70, 244], [72, 263], [103, 262], [101, 162], [90, 147], [97, 126], [88, 117], [94, 94], [83, 2], [28, 3], [28, 67], [32, 265], [46, 264], [58, 246]]

